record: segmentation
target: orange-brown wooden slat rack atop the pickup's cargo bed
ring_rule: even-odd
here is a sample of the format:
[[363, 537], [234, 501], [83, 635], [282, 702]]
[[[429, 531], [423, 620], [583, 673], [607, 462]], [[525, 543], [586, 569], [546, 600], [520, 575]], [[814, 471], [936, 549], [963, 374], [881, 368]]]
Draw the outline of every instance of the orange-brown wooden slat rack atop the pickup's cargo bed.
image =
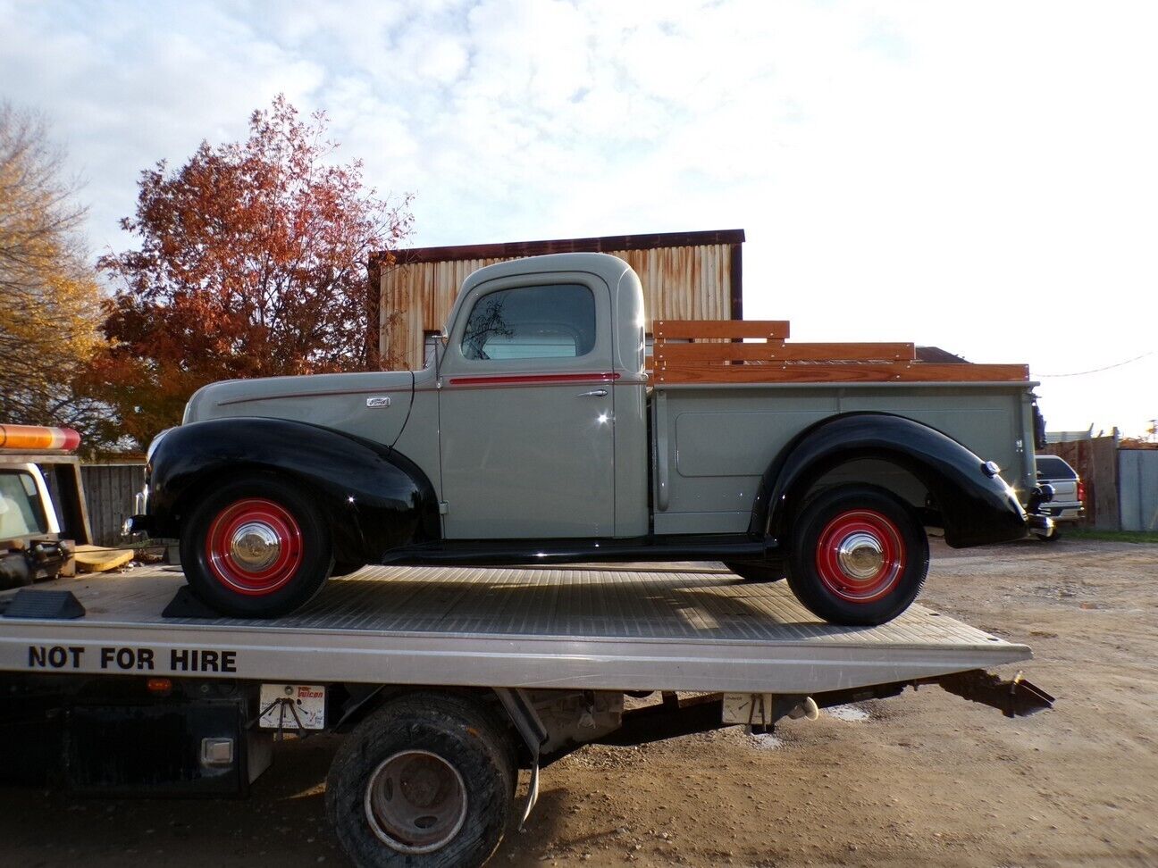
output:
[[923, 362], [913, 344], [791, 344], [784, 319], [657, 319], [652, 333], [654, 383], [1017, 383], [1029, 378], [1026, 365]]

